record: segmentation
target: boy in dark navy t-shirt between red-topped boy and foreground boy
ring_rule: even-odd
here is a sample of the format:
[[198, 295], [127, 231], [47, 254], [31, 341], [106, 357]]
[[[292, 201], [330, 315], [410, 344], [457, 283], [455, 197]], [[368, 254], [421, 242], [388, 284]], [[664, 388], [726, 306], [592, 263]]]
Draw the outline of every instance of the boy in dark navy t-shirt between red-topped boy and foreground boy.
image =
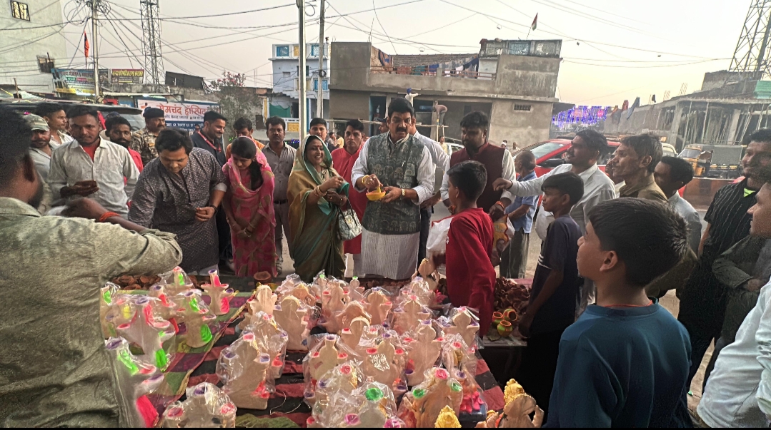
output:
[[581, 228], [570, 212], [584, 196], [584, 181], [573, 172], [561, 173], [548, 177], [541, 189], [544, 211], [553, 213], [554, 221], [547, 228], [538, 257], [527, 312], [520, 318], [520, 334], [527, 338], [527, 348], [517, 381], [547, 417], [560, 338], [575, 321], [580, 286], [576, 254]]

